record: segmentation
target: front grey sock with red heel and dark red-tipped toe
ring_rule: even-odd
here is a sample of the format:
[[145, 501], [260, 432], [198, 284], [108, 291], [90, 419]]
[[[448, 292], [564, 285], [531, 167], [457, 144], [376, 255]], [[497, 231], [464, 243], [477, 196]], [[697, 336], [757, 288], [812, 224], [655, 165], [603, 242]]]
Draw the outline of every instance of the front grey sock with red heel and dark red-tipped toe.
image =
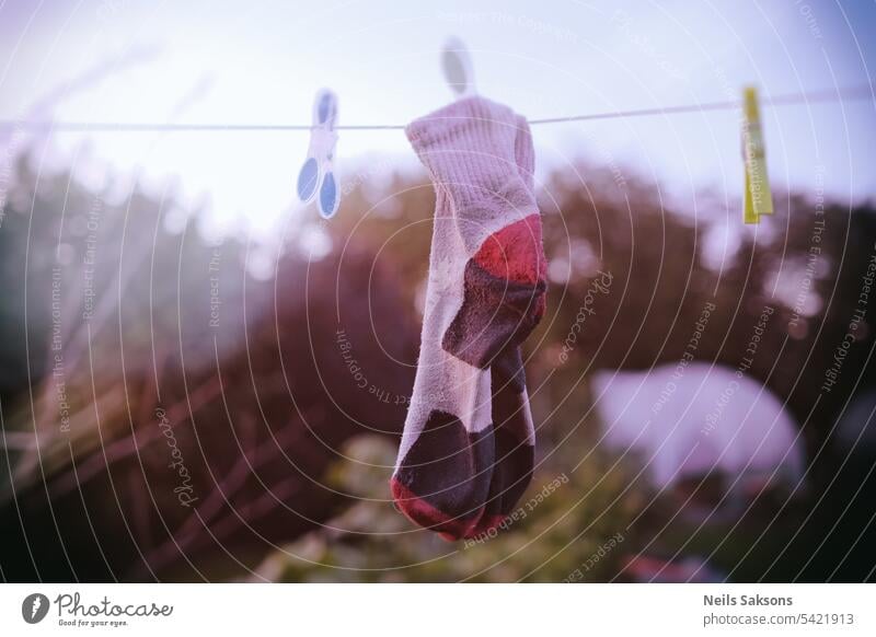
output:
[[494, 375], [522, 387], [511, 395], [523, 396], [529, 414], [517, 346], [544, 308], [543, 258], [531, 247], [539, 218], [517, 166], [509, 108], [469, 97], [406, 132], [433, 178], [436, 213], [417, 373], [391, 487], [410, 519], [456, 540], [472, 535], [491, 491]]

